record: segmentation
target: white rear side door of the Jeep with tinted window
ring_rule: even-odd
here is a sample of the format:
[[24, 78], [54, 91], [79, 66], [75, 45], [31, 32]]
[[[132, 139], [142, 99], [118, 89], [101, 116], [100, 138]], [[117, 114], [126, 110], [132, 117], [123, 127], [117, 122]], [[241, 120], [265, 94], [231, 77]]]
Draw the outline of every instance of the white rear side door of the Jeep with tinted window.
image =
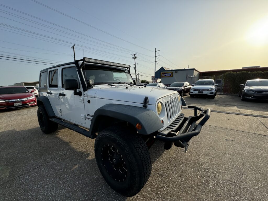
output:
[[61, 116], [61, 105], [59, 102], [59, 68], [51, 68], [48, 70], [48, 86], [47, 86], [47, 98], [54, 110], [56, 116]]

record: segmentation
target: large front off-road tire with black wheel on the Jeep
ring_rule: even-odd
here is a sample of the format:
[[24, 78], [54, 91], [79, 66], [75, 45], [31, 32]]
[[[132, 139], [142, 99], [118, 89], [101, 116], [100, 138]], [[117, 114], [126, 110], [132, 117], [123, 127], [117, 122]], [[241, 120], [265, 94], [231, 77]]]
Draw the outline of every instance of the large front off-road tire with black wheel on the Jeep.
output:
[[[121, 178], [119, 182], [120, 179], [117, 178], [120, 176], [116, 177], [118, 173], [111, 176], [114, 170], [109, 169], [109, 163], [106, 162], [105, 166], [107, 153], [103, 151], [103, 148], [105, 149], [107, 146], [115, 147], [121, 154], [122, 161], [125, 162], [124, 181]], [[108, 155], [108, 157], [111, 156]], [[111, 126], [98, 134], [95, 139], [95, 158], [105, 181], [112, 189], [124, 196], [136, 195], [146, 184], [151, 174], [151, 158], [146, 143], [136, 132], [124, 126]], [[111, 161], [110, 158], [109, 161]]]

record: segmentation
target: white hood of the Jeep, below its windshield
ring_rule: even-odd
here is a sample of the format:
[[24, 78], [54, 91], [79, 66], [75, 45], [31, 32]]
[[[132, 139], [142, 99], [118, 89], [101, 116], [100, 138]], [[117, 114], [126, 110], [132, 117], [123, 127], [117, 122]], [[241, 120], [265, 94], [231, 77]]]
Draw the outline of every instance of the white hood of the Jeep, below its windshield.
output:
[[[91, 93], [90, 90], [88, 90], [88, 94]], [[148, 96], [149, 105], [155, 105], [159, 98], [171, 94], [178, 95], [176, 91], [173, 92], [165, 89], [140, 87], [140, 86], [105, 87], [92, 90], [92, 92], [94, 91], [95, 91], [95, 98], [134, 102], [134, 103], [143, 103], [144, 98]]]

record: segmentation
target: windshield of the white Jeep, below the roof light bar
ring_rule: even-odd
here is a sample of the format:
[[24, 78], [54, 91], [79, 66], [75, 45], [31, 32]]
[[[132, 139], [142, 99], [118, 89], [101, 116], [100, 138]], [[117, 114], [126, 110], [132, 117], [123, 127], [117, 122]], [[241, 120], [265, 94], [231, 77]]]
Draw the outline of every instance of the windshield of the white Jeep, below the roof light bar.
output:
[[89, 80], [94, 80], [94, 84], [109, 83], [116, 84], [118, 82], [125, 82], [133, 84], [133, 79], [129, 74], [128, 69], [117, 67], [102, 67], [86, 65], [82, 68], [87, 83]]

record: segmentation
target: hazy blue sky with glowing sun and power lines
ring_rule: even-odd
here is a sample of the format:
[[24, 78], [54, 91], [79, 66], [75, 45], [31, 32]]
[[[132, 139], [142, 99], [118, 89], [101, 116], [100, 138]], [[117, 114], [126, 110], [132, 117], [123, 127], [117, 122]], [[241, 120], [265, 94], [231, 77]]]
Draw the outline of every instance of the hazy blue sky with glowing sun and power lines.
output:
[[137, 70], [147, 80], [154, 74], [155, 47], [157, 70], [268, 66], [267, 0], [36, 1], [86, 24], [31, 0], [2, 0], [0, 85], [38, 81], [39, 71], [54, 65], [7, 57], [60, 64], [73, 61], [72, 44], [76, 59], [84, 46], [85, 57], [129, 64], [132, 73], [131, 54], [137, 53]]

